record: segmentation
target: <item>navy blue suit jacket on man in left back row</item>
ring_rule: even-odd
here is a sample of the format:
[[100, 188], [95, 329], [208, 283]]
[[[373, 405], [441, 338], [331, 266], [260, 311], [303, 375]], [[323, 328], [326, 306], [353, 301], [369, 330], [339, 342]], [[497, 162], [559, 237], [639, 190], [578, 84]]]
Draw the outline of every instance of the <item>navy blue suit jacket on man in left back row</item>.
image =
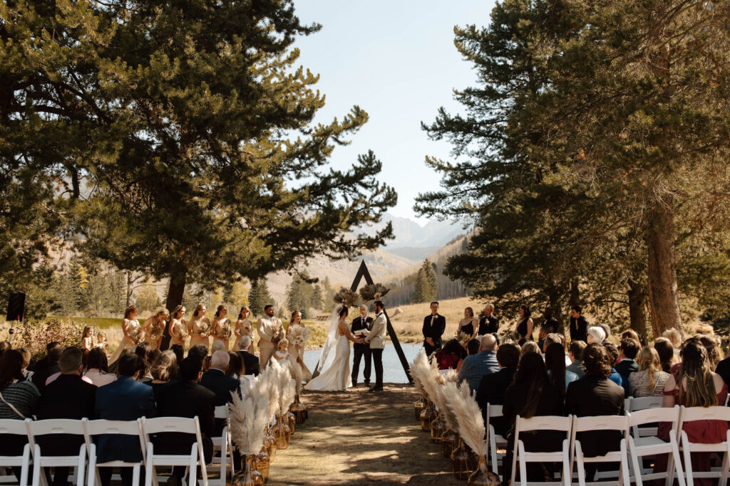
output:
[[[120, 376], [118, 380], [96, 390], [96, 418], [104, 420], [137, 420], [155, 416], [155, 396], [151, 386]], [[142, 450], [139, 438], [103, 435], [96, 438], [96, 461], [139, 462]]]

